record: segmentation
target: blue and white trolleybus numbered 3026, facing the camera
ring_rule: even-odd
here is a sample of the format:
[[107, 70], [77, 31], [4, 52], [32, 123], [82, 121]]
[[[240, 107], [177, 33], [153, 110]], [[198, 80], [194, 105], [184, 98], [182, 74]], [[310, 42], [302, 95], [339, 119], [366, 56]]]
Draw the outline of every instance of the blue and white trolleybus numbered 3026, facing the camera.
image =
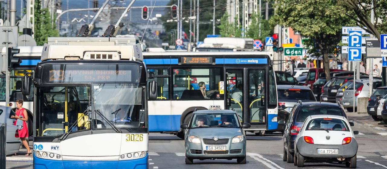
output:
[[31, 80], [35, 87], [34, 168], [147, 169], [151, 75], [139, 44], [128, 38], [48, 41], [33, 80], [23, 79], [23, 94]]

